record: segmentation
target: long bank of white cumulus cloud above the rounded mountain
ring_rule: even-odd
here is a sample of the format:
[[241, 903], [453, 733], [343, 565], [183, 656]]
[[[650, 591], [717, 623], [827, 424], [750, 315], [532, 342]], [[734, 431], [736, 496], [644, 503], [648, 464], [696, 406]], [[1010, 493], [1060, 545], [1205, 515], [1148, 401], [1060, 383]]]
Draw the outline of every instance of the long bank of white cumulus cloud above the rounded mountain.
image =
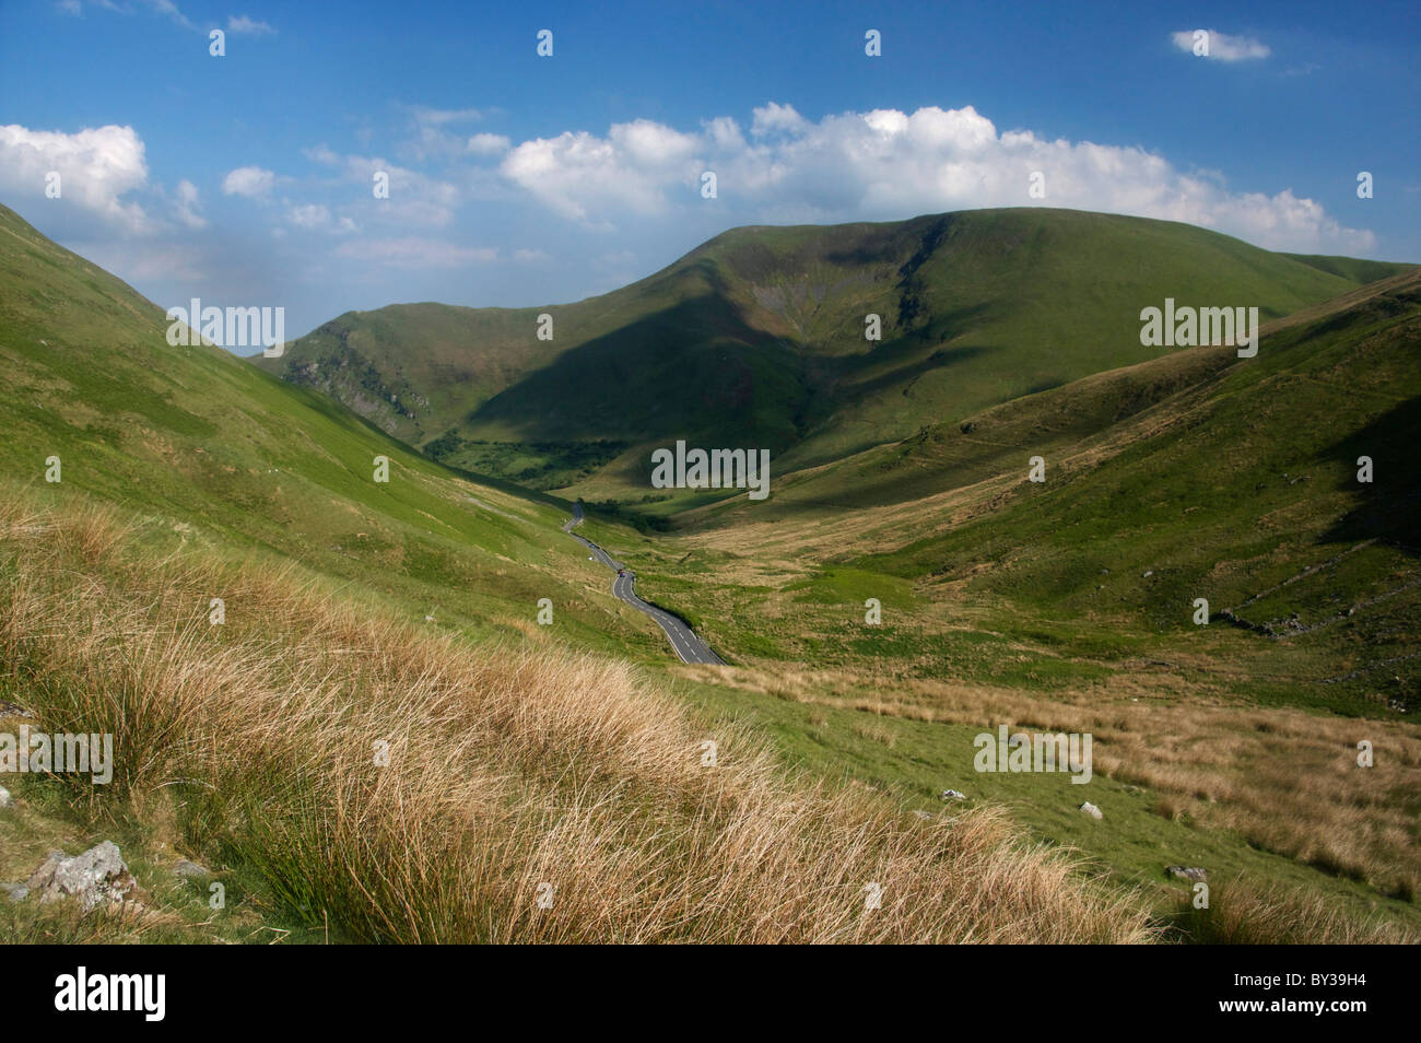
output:
[[[1137, 146], [998, 131], [971, 105], [874, 109], [818, 122], [789, 105], [755, 109], [746, 144], [720, 117], [685, 134], [639, 119], [607, 136], [585, 131], [514, 146], [502, 175], [556, 213], [594, 227], [624, 215], [702, 206], [699, 175], [719, 202], [756, 222], [892, 220], [989, 206], [1064, 206], [1162, 217], [1275, 250], [1366, 253], [1371, 232], [1343, 227], [1286, 188], [1233, 193], [1222, 178], [1181, 171]], [[1033, 198], [1029, 188], [1044, 188]]]

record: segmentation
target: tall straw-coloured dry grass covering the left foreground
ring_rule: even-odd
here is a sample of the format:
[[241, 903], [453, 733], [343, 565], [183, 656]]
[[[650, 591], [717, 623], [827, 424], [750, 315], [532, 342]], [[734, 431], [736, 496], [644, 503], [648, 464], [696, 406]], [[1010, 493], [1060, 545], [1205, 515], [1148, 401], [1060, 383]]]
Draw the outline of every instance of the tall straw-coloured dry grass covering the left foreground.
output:
[[156, 560], [109, 514], [24, 503], [0, 507], [0, 698], [45, 730], [114, 733], [114, 783], [72, 780], [74, 800], [141, 818], [180, 793], [193, 844], [348, 938], [1152, 936], [999, 814], [924, 823], [787, 776], [627, 664], [468, 647], [294, 570]]

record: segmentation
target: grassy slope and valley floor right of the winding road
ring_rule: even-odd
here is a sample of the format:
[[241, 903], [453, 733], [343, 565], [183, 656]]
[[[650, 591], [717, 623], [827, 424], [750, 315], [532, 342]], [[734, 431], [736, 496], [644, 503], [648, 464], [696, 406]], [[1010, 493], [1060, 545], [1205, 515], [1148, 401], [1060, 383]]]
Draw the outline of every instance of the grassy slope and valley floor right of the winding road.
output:
[[[1411, 271], [1276, 323], [1253, 361], [1175, 352], [803, 473], [672, 540], [601, 539], [742, 664], [688, 691], [807, 763], [1007, 800], [1154, 887], [1194, 858], [1414, 918], [1377, 891], [1411, 895], [1421, 871], [1421, 747], [1393, 709], [1418, 692], [1418, 344]], [[1025, 482], [1036, 453], [1044, 486]], [[1285, 637], [1194, 627], [1195, 597]], [[1295, 612], [1316, 629], [1287, 637]], [[1059, 779], [972, 773], [971, 736], [1002, 722], [1094, 730], [1114, 767], [1087, 789], [1113, 826], [1074, 817]], [[1358, 736], [1385, 746], [1385, 776], [1351, 764]]]

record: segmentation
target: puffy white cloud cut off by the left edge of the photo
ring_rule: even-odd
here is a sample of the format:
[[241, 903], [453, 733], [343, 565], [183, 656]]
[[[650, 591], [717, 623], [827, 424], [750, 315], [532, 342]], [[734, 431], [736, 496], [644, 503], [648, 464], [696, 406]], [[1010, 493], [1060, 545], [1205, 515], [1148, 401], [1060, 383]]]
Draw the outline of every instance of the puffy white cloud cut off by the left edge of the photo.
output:
[[57, 205], [78, 205], [124, 232], [152, 230], [142, 206], [122, 200], [148, 183], [144, 141], [132, 126], [109, 124], [77, 134], [0, 126], [0, 190], [44, 199], [51, 171], [60, 175]]

